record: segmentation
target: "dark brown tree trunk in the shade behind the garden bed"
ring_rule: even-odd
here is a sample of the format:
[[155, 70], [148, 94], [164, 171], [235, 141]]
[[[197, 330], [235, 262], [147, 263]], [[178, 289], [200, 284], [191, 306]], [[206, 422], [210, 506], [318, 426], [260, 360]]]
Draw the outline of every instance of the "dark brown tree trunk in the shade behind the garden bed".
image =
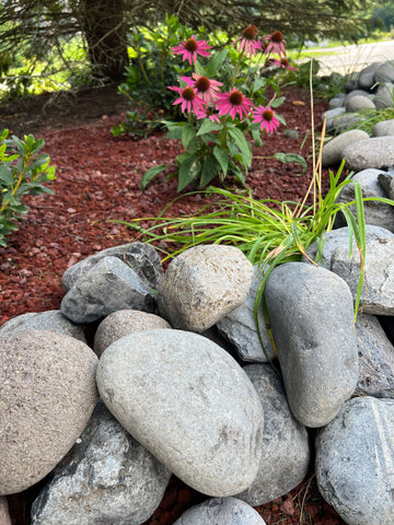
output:
[[81, 0], [80, 8], [94, 82], [121, 81], [129, 63], [124, 0]]

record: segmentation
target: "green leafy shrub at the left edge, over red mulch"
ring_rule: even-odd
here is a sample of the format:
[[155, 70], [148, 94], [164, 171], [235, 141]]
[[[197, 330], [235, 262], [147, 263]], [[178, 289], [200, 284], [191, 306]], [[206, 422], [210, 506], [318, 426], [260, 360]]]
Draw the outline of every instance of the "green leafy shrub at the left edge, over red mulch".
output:
[[0, 135], [0, 246], [7, 246], [5, 235], [18, 230], [18, 221], [28, 212], [22, 197], [53, 194], [44, 184], [56, 178], [49, 156], [38, 154], [43, 139], [35, 140], [32, 135], [24, 140], [8, 136], [8, 129]]

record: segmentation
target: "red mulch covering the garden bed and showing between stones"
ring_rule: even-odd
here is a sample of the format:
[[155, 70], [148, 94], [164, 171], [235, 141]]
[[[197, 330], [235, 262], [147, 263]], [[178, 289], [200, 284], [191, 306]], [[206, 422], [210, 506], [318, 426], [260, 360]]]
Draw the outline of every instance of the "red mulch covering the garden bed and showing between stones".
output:
[[[86, 93], [76, 100], [63, 96], [54, 104], [40, 104], [40, 113], [28, 105], [19, 114], [12, 105], [0, 108], [2, 127], [19, 136], [33, 131], [36, 138], [43, 137], [43, 151], [57, 166], [57, 179], [50, 184], [55, 195], [26, 198], [30, 206], [26, 220], [8, 237], [8, 247], [0, 248], [0, 325], [26, 312], [59, 308], [65, 293], [60, 279], [67, 267], [138, 235], [111, 220], [154, 217], [177, 197], [176, 179], [167, 180], [166, 174], [154, 179], [147, 191], [140, 189], [141, 176], [152, 165], [175, 166], [177, 144], [163, 140], [161, 133], [138, 141], [130, 137], [114, 138], [109, 130], [123, 120], [120, 112], [125, 105], [118, 100], [114, 102], [113, 91], [103, 92], [102, 97], [97, 92], [94, 97]], [[255, 198], [299, 200], [310, 184], [309, 95], [299, 89], [286, 94], [287, 101], [278, 113], [285, 117], [287, 129], [298, 131], [298, 138], [286, 137], [281, 127], [277, 135], [264, 139], [263, 148], [255, 149], [247, 177]], [[314, 105], [316, 129], [326, 108], [324, 102]], [[300, 175], [299, 165], [267, 159], [280, 151], [302, 154], [308, 161], [308, 172]], [[327, 180], [325, 187], [326, 184]], [[231, 177], [225, 186], [240, 189]], [[202, 195], [186, 196], [169, 212], [173, 217], [194, 213], [205, 202]], [[142, 225], [148, 222], [143, 221]], [[30, 523], [28, 508], [36, 493], [34, 487], [9, 498], [14, 525]], [[184, 510], [204, 498], [173, 477], [160, 508], [147, 525], [171, 525]], [[314, 478], [257, 510], [267, 525], [345, 523], [320, 497]]]

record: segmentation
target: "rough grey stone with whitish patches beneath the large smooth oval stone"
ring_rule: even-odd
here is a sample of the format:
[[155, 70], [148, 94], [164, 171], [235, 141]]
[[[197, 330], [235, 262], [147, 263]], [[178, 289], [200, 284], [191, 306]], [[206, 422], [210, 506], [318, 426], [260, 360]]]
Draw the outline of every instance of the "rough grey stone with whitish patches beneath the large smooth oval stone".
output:
[[32, 525], [140, 525], [159, 506], [171, 472], [99, 401], [50, 476], [33, 503]]

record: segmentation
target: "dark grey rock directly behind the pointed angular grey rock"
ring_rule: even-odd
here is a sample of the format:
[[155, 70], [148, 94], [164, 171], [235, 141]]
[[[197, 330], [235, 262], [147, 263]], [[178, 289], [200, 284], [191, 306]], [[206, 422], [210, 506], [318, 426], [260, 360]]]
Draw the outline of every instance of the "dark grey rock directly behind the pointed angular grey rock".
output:
[[84, 273], [88, 273], [104, 257], [117, 257], [126, 262], [142, 281], [153, 290], [158, 290], [164, 276], [160, 256], [153, 246], [138, 241], [103, 249], [80, 260], [68, 268], [61, 278], [61, 284], [68, 292]]

